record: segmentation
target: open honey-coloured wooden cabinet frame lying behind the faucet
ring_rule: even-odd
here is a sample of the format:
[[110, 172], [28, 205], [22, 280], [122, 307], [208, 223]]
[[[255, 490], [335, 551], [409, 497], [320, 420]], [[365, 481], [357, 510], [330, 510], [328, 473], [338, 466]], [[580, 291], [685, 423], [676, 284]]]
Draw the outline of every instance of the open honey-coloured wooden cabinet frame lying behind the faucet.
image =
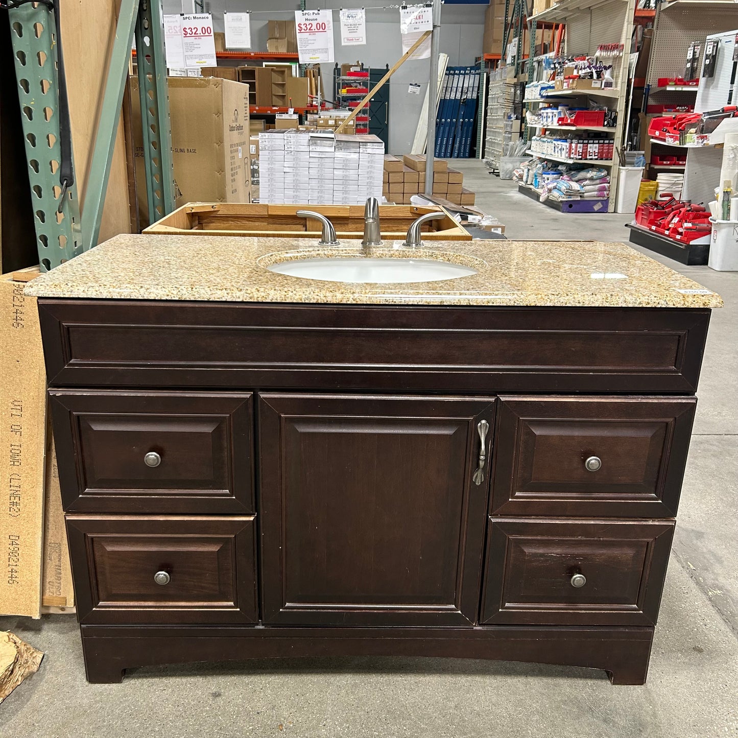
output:
[[[363, 205], [275, 205], [249, 203], [188, 203], [145, 229], [159, 235], [241, 235], [252, 238], [320, 238], [316, 220], [300, 218], [297, 210], [316, 210], [330, 218], [341, 239], [359, 238], [364, 231]], [[429, 241], [471, 241], [472, 237], [443, 207], [380, 205], [382, 238], [405, 238], [410, 224], [420, 215], [441, 210], [445, 218], [424, 224]]]

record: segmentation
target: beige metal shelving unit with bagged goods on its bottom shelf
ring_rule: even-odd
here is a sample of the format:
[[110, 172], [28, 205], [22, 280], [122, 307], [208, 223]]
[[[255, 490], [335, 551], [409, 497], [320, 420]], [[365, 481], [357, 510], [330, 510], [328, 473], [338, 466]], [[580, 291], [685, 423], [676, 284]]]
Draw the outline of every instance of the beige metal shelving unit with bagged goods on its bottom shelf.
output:
[[[633, 18], [635, 14], [635, 0], [560, 0], [558, 3], [542, 10], [536, 15], [528, 18], [528, 29], [531, 36], [531, 44], [534, 44], [535, 34], [539, 23], [565, 24], [565, 37], [563, 54], [586, 54], [593, 56], [600, 44], [623, 44], [624, 52], [621, 57], [613, 58], [613, 80], [612, 89], [566, 89], [550, 92], [542, 97], [527, 97], [525, 103], [528, 105], [539, 105], [556, 100], [566, 100], [584, 103], [589, 98], [599, 100], [601, 104], [617, 113], [617, 125], [607, 126], [531, 126], [533, 129], [542, 130], [552, 128], [554, 130], [568, 131], [598, 131], [600, 133], [613, 134], [615, 147], [621, 145], [626, 118], [626, 102], [628, 89], [628, 53], [630, 39], [632, 36]], [[528, 81], [533, 82], [534, 76], [540, 75], [543, 61], [550, 55], [534, 57], [531, 52], [528, 61]], [[610, 61], [610, 60], [608, 60]], [[528, 130], [525, 137], [529, 138]], [[615, 148], [613, 147], [613, 148]], [[615, 187], [618, 181], [618, 156], [613, 153], [612, 159], [568, 159], [565, 157], [545, 156], [533, 154], [540, 159], [565, 162], [582, 163], [584, 165], [601, 166], [610, 170], [610, 198], [607, 201], [607, 212], [615, 210]], [[525, 192], [531, 196], [531, 193]], [[604, 201], [599, 202], [599, 210], [573, 210], [568, 212], [602, 212]]]

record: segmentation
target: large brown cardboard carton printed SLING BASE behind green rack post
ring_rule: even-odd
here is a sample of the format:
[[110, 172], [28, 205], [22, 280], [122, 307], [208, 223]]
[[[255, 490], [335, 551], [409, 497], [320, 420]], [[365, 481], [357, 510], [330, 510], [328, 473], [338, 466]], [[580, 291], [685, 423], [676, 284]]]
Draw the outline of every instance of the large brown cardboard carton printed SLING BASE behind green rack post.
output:
[[[249, 86], [215, 77], [168, 77], [176, 205], [248, 202]], [[141, 228], [150, 225], [139, 120], [131, 77], [136, 190]]]

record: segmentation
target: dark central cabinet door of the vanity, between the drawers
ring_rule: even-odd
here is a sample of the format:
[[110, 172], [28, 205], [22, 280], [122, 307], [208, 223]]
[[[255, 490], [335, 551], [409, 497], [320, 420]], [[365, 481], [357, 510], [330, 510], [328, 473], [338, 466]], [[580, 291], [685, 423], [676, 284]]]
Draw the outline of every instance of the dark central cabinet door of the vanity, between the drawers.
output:
[[258, 407], [263, 621], [474, 624], [494, 401], [264, 394]]

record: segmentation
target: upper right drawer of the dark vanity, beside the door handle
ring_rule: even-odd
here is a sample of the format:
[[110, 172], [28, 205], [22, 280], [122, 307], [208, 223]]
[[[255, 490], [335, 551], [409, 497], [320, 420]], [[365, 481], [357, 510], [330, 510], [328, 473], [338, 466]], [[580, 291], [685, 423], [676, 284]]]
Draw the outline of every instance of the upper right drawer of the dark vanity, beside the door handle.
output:
[[673, 517], [696, 404], [694, 397], [501, 397], [490, 512]]

